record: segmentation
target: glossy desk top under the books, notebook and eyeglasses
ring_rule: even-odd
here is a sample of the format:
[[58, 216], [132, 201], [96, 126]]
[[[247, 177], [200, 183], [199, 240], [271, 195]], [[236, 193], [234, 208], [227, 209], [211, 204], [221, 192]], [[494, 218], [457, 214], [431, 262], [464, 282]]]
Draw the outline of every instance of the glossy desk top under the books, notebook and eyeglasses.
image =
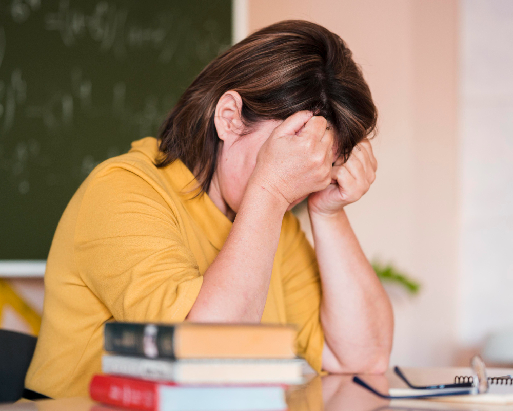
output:
[[[451, 382], [456, 375], [470, 375], [469, 368], [404, 368], [416, 384]], [[504, 375], [512, 369], [488, 370], [490, 376]], [[388, 388], [404, 387], [392, 370], [384, 376], [362, 376], [365, 381], [386, 392]], [[431, 400], [383, 400], [354, 384], [352, 376], [316, 377], [303, 386], [288, 391], [290, 411], [511, 411], [513, 405], [451, 404]], [[112, 411], [116, 408], [98, 405], [86, 397], [61, 400], [40, 400], [0, 405], [0, 411]], [[121, 408], [117, 408], [121, 409]]]

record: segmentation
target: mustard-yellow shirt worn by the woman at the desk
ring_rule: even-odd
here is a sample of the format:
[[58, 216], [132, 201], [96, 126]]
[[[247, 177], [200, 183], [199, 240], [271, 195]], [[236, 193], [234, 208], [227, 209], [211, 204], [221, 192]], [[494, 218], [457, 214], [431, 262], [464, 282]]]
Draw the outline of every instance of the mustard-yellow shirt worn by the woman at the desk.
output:
[[[180, 322], [231, 221], [195, 198], [181, 161], [158, 169], [156, 139], [98, 165], [58, 223], [45, 273], [41, 332], [25, 380], [49, 397], [86, 395], [101, 372], [106, 321]], [[263, 323], [298, 325], [297, 353], [321, 370], [324, 344], [315, 254], [287, 212]]]

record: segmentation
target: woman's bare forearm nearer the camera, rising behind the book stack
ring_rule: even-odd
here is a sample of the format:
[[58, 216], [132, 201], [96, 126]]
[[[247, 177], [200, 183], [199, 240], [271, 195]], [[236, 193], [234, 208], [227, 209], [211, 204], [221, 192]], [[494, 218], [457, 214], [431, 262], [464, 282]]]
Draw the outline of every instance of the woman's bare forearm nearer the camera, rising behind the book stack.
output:
[[250, 182], [223, 248], [203, 275], [188, 320], [260, 322], [287, 206]]

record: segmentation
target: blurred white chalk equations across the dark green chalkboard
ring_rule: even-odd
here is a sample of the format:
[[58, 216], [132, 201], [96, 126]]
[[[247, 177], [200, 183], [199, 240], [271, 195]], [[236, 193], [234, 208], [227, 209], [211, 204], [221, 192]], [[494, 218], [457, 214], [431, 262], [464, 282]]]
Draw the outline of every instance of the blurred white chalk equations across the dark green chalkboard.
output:
[[[6, 8], [12, 20], [24, 27], [28, 25], [32, 17], [39, 13], [39, 26], [45, 31], [58, 33], [62, 44], [65, 47], [80, 47], [84, 39], [92, 40], [98, 44], [102, 52], [113, 52], [116, 57], [125, 56], [131, 50], [155, 50], [153, 58], [155, 62], [168, 63], [175, 57], [175, 52], [181, 44], [187, 40], [192, 48], [183, 49], [176, 55], [175, 67], [187, 71], [191, 59], [198, 58], [208, 61], [227, 45], [219, 44], [214, 35], [218, 29], [218, 23], [213, 19], [207, 19], [202, 29], [194, 27], [187, 17], [180, 17], [179, 14], [171, 11], [162, 11], [154, 14], [146, 20], [151, 23], [140, 24], [133, 15], [128, 18], [128, 9], [118, 6], [115, 2], [101, 0], [93, 3], [89, 8], [90, 12], [81, 10], [81, 6], [73, 5], [78, 2], [59, 0], [54, 6], [42, 11], [40, 0], [13, 0]], [[124, 4], [124, 3], [121, 3]], [[53, 11], [52, 8], [54, 7]], [[151, 15], [150, 15], [151, 17]], [[12, 42], [15, 38], [7, 39], [6, 31], [0, 26], [0, 67], [4, 62], [6, 43]], [[188, 43], [188, 44], [189, 44]], [[189, 46], [188, 46], [189, 47]], [[10, 50], [10, 49], [9, 49]], [[89, 68], [90, 70], [90, 68]], [[61, 77], [62, 78], [62, 77]], [[145, 96], [139, 95], [137, 101], [140, 104], [134, 105], [134, 90], [130, 89], [130, 83], [113, 81], [111, 87], [111, 101], [106, 101], [103, 91], [100, 92], [100, 99], [93, 99], [94, 84], [84, 75], [80, 67], [70, 70], [68, 81], [58, 86], [48, 88], [46, 95], [35, 94], [38, 97], [34, 100], [33, 90], [39, 88], [39, 84], [27, 84], [21, 67], [11, 65], [8, 71], [4, 71], [0, 78], [0, 133], [3, 138], [16, 138], [16, 124], [24, 119], [40, 119], [41, 125], [47, 130], [47, 135], [72, 136], [73, 127], [84, 121], [84, 118], [91, 118], [91, 121], [98, 117], [110, 117], [119, 122], [119, 130], [127, 135], [147, 136], [154, 133], [161, 124], [165, 112], [172, 107], [176, 96], [168, 94], [154, 94], [156, 90], [148, 90]], [[67, 85], [66, 85], [67, 83]], [[101, 90], [108, 90], [109, 86], [102, 84]], [[130, 91], [131, 94], [130, 94]], [[137, 91], [140, 93], [141, 91]], [[27, 95], [31, 100], [27, 100]], [[96, 91], [95, 96], [98, 96]], [[130, 99], [127, 100], [127, 96]], [[98, 104], [100, 103], [100, 104]], [[142, 103], [142, 104], [141, 104]], [[77, 121], [75, 124], [75, 119]], [[20, 136], [22, 137], [22, 136]], [[27, 138], [27, 137], [26, 137]], [[65, 137], [72, 138], [72, 137]], [[53, 163], [53, 157], [45, 155], [45, 146], [34, 139], [16, 138], [12, 146], [4, 140], [11, 148], [9, 152], [0, 145], [0, 170], [10, 174], [13, 182], [17, 185], [18, 192], [27, 194], [30, 190], [29, 176], [30, 164]], [[4, 144], [2, 142], [2, 144]], [[90, 154], [83, 154], [76, 170], [71, 171], [73, 175], [80, 175], [84, 178], [105, 157], [112, 157], [126, 151], [127, 147], [112, 146], [107, 150], [105, 156], [94, 158]], [[97, 155], [97, 154], [96, 154]], [[66, 171], [63, 170], [64, 173]], [[64, 176], [49, 172], [46, 178], [47, 185], [58, 184]]]

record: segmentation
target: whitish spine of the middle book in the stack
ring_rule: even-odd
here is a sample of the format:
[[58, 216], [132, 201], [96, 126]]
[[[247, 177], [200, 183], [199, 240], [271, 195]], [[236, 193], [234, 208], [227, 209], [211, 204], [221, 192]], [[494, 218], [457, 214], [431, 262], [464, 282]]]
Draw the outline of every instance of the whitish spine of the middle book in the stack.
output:
[[174, 380], [174, 364], [145, 358], [108, 356], [102, 357], [102, 372], [148, 380]]

